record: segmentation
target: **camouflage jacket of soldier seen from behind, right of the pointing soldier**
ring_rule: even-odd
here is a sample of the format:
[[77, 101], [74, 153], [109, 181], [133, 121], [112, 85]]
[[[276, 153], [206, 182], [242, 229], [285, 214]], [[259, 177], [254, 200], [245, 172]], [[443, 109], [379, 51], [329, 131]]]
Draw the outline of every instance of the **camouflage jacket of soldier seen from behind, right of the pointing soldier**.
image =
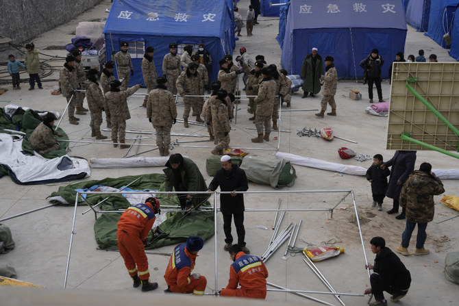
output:
[[154, 126], [172, 127], [172, 119], [177, 118], [174, 96], [169, 90], [156, 88], [151, 90], [147, 101], [147, 117]]

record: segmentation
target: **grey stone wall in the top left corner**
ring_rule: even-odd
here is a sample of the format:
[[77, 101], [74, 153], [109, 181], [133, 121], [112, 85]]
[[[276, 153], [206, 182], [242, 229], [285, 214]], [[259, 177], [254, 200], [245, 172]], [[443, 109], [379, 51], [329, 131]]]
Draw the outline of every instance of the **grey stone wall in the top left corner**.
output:
[[0, 36], [27, 42], [66, 23], [101, 0], [1, 0]]

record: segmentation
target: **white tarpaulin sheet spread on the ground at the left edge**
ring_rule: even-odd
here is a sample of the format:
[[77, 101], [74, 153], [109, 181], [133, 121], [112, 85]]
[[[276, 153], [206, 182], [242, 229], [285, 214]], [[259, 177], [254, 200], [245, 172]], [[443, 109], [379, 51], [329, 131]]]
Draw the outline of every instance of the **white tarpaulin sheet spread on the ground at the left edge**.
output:
[[20, 184], [40, 184], [84, 178], [90, 175], [86, 160], [64, 155], [48, 160], [40, 155], [25, 155], [21, 136], [0, 133], [0, 164]]

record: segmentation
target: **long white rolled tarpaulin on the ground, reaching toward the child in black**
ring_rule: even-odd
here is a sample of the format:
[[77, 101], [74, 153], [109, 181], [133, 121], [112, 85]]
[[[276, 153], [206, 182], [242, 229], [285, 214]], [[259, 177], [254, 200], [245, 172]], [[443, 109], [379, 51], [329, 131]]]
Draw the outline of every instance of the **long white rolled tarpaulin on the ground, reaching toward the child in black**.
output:
[[288, 160], [290, 164], [345, 173], [347, 175], [365, 175], [367, 173], [367, 169], [360, 166], [350, 166], [336, 164], [334, 162], [325, 162], [325, 160], [317, 160], [315, 158], [303, 157], [290, 153], [277, 152], [275, 153], [275, 157], [279, 160]]

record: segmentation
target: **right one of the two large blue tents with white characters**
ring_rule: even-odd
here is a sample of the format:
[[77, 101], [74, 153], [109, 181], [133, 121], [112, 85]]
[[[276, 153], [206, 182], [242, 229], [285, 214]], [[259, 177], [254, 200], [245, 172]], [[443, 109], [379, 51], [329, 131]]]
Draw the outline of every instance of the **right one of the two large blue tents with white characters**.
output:
[[313, 47], [324, 58], [332, 55], [338, 77], [362, 77], [359, 63], [373, 48], [386, 60], [382, 77], [388, 77], [390, 62], [404, 51], [406, 22], [401, 0], [290, 0], [281, 64], [289, 74], [301, 72], [303, 58]]

